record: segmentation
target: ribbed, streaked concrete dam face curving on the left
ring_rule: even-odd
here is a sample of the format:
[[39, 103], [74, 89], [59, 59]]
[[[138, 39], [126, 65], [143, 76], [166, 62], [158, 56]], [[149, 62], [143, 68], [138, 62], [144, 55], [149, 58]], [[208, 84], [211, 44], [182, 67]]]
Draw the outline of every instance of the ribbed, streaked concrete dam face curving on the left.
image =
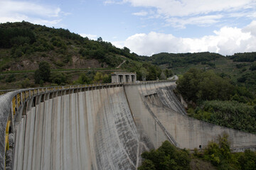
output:
[[137, 169], [139, 139], [123, 87], [58, 96], [16, 132], [14, 169]]

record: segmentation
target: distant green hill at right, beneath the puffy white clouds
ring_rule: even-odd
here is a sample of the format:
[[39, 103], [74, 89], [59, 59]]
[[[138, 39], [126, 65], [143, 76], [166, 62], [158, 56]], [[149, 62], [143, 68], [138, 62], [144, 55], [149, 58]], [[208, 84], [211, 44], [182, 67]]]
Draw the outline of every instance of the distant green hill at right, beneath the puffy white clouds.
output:
[[156, 64], [161, 69], [171, 69], [174, 74], [182, 75], [189, 69], [213, 70], [221, 77], [228, 77], [235, 84], [256, 89], [256, 52], [235, 53], [223, 56], [212, 52], [172, 54], [162, 52], [140, 60]]

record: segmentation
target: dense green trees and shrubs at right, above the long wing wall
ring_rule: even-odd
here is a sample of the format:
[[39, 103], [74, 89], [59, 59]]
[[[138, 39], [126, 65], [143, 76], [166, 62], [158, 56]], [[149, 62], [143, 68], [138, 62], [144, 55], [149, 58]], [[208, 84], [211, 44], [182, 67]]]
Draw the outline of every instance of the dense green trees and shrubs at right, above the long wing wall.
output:
[[191, 103], [188, 115], [216, 125], [256, 133], [254, 86], [238, 86], [212, 71], [190, 69], [177, 81], [177, 90]]

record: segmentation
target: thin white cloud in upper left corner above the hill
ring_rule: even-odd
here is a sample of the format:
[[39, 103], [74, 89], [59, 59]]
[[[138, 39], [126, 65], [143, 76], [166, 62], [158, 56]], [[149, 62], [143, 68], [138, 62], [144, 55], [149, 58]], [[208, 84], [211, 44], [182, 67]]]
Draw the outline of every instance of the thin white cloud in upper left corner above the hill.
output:
[[0, 23], [29, 21], [46, 26], [54, 26], [61, 21], [60, 8], [44, 6], [28, 1], [0, 1]]

